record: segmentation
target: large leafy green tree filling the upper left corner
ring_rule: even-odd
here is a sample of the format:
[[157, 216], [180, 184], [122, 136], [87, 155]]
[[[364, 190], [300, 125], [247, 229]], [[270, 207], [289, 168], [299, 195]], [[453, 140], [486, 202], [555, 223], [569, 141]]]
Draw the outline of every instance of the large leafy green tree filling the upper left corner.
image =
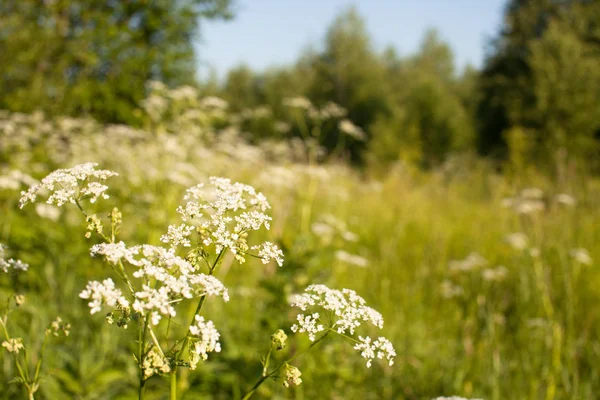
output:
[[201, 17], [230, 0], [0, 2], [0, 107], [132, 122], [149, 80], [194, 82]]

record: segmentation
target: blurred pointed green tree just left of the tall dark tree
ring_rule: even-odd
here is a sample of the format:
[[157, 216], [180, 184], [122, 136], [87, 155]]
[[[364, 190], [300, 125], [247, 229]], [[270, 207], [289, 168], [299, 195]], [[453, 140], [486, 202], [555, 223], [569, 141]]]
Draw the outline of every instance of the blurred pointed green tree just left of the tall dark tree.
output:
[[430, 167], [468, 148], [473, 136], [468, 76], [456, 77], [452, 50], [437, 32], [425, 34], [414, 56], [399, 60], [388, 51], [386, 58], [394, 109], [373, 126], [371, 161], [402, 159]]

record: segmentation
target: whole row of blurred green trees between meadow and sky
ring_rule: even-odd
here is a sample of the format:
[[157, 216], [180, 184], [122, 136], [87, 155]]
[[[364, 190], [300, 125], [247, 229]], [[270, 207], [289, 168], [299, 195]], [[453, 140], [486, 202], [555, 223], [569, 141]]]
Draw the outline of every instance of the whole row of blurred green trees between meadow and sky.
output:
[[[2, 2], [0, 108], [135, 125], [147, 82], [160, 80], [194, 85], [237, 111], [266, 106], [274, 119], [289, 114], [293, 97], [319, 107], [333, 102], [366, 138], [343, 141], [331, 128], [318, 140], [329, 153], [343, 143], [343, 154], [359, 164], [430, 168], [465, 153], [541, 166], [597, 158], [598, 0], [508, 1], [480, 70], [458, 71], [434, 30], [415, 54], [377, 51], [350, 8], [329, 27], [322, 49], [306, 50], [292, 65], [239, 66], [223, 81], [198, 82], [193, 41], [201, 18], [229, 18], [234, 8], [228, 0]], [[248, 131], [252, 140], [302, 134], [298, 125]]]

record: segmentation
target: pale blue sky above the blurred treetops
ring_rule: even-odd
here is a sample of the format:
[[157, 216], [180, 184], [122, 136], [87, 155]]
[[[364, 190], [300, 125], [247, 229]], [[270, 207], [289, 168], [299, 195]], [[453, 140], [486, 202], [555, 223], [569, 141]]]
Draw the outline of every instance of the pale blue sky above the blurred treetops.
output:
[[486, 43], [500, 27], [506, 0], [234, 0], [231, 21], [202, 21], [197, 44], [200, 75], [219, 76], [245, 63], [253, 69], [293, 63], [319, 47], [335, 17], [354, 5], [377, 49], [415, 52], [427, 28], [438, 29], [459, 68], [482, 65]]

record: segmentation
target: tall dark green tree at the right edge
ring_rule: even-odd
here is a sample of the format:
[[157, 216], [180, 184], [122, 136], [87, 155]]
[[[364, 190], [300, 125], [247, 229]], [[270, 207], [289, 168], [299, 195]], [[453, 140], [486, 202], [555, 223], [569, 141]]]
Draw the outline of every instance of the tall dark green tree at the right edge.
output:
[[598, 132], [600, 2], [512, 0], [504, 20], [478, 84], [478, 149], [505, 157], [515, 127], [538, 155], [586, 147]]

